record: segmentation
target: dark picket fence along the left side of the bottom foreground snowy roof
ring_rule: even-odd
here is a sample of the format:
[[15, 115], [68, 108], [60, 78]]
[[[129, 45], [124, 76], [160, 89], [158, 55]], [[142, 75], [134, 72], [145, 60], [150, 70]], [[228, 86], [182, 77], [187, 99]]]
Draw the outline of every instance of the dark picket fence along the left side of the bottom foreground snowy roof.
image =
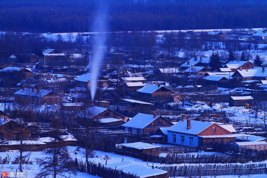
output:
[[77, 167], [77, 170], [80, 172], [86, 172], [91, 175], [97, 176], [97, 177], [103, 177], [103, 178], [110, 178], [110, 177], [125, 177], [125, 178], [140, 178], [139, 176], [136, 176], [136, 174], [131, 173], [125, 173], [123, 170], [115, 170], [108, 167], [105, 167], [101, 163], [92, 163], [92, 162], [82, 162], [78, 161], [77, 158], [75, 160], [70, 161], [71, 164], [75, 165]]

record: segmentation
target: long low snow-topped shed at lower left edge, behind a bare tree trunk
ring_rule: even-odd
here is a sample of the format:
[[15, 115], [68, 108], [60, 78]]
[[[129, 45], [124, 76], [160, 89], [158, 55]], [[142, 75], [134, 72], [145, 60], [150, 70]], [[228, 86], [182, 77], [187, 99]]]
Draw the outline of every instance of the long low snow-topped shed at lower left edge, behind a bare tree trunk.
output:
[[[45, 151], [45, 143], [36, 140], [23, 140], [23, 151]], [[6, 150], [20, 150], [20, 141], [7, 141], [5, 144], [0, 144], [0, 152]]]

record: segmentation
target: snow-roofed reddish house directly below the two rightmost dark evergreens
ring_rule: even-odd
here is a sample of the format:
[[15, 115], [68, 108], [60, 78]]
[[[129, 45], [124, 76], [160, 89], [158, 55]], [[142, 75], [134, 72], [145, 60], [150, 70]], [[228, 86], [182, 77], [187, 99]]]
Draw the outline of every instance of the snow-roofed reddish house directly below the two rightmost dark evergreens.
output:
[[[231, 69], [232, 72], [235, 72], [237, 69], [250, 69], [253, 67], [258, 67], [258, 66], [249, 61], [240, 61], [240, 60], [237, 61], [232, 60], [223, 66], [223, 68]], [[220, 68], [220, 70], [222, 69]]]

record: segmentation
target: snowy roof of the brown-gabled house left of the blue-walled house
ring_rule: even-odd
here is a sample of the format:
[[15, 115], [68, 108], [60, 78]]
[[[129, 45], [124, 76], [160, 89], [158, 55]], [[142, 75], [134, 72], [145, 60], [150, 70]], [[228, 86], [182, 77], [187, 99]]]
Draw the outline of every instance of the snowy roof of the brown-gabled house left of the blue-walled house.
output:
[[158, 117], [160, 117], [160, 116], [154, 117], [154, 115], [138, 113], [133, 118], [131, 118], [131, 120], [129, 120], [128, 122], [126, 122], [125, 124], [123, 124], [121, 126], [143, 129], [147, 125], [152, 123], [154, 120], [156, 120]]

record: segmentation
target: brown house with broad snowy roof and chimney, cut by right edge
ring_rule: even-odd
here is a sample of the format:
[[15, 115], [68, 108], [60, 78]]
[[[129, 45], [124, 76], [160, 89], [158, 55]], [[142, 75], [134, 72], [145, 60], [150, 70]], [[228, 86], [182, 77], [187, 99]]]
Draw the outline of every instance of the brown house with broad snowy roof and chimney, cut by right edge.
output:
[[236, 70], [233, 75], [233, 83], [241, 83], [247, 80], [267, 80], [267, 71], [265, 66], [253, 67], [251, 69]]

